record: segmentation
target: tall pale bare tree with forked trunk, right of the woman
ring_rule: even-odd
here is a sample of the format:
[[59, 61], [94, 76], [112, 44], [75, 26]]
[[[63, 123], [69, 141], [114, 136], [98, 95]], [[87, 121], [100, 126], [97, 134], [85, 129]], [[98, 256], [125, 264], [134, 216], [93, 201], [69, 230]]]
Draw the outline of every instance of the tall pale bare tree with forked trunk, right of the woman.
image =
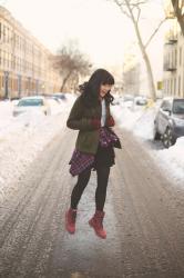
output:
[[152, 72], [152, 67], [150, 62], [149, 54], [146, 52], [146, 47], [153, 39], [153, 37], [159, 31], [160, 27], [162, 23], [166, 20], [165, 18], [160, 22], [157, 28], [154, 30], [154, 32], [150, 36], [150, 39], [144, 43], [143, 39], [141, 37], [141, 28], [139, 27], [140, 18], [141, 18], [141, 8], [143, 4], [147, 3], [149, 0], [111, 0], [113, 1], [120, 9], [121, 11], [129, 18], [131, 19], [135, 34], [137, 38], [137, 43], [143, 57], [143, 60], [145, 62], [146, 67], [146, 72], [147, 72], [147, 80], [149, 80], [149, 88], [150, 88], [150, 93], [153, 100], [156, 99], [156, 90], [155, 90], [155, 85], [154, 85], [154, 78], [153, 78], [153, 72]]

